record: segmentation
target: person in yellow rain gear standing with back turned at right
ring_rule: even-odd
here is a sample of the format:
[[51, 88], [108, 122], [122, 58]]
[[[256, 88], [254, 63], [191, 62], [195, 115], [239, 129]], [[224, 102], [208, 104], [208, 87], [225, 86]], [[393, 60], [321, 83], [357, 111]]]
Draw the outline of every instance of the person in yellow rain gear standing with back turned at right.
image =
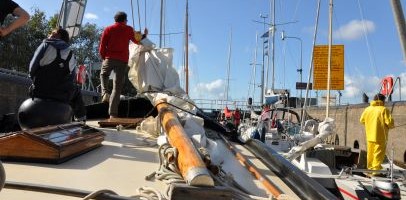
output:
[[[367, 168], [381, 170], [385, 158], [389, 129], [394, 127], [390, 111], [385, 108], [385, 96], [376, 94], [370, 106], [361, 114], [360, 122], [365, 126], [367, 141]], [[377, 175], [373, 173], [372, 175]]]

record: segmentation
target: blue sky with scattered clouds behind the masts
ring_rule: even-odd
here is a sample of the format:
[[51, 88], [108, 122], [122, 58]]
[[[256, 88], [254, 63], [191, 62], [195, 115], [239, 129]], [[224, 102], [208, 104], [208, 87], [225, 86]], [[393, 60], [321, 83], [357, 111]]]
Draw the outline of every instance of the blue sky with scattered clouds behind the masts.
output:
[[[150, 30], [150, 39], [159, 44], [160, 0], [140, 2], [141, 27]], [[62, 0], [16, 0], [29, 12], [39, 8], [47, 16], [59, 12]], [[319, 27], [316, 44], [328, 43], [329, 0], [321, 1]], [[403, 10], [406, 2], [401, 1]], [[166, 33], [184, 31], [185, 1], [167, 0]], [[133, 0], [135, 28], [139, 29], [137, 1]], [[316, 0], [276, 0], [275, 38], [275, 88], [286, 88], [292, 96], [299, 96], [295, 83], [299, 81], [297, 69], [300, 66], [300, 40], [302, 41], [303, 81], [307, 81], [311, 45], [315, 26]], [[130, 0], [88, 0], [83, 23], [95, 23], [105, 27], [113, 23], [114, 13], [125, 11], [129, 24], [133, 24]], [[146, 15], [145, 15], [146, 11]], [[345, 46], [344, 72], [345, 89], [341, 103], [360, 103], [362, 93], [372, 97], [380, 88], [380, 80], [385, 76], [400, 77], [406, 80], [406, 63], [400, 48], [399, 37], [394, 23], [390, 1], [340, 0], [334, 1], [333, 43]], [[189, 94], [193, 99], [225, 99], [229, 46], [231, 44], [229, 97], [245, 100], [254, 96], [259, 99], [259, 89], [248, 92], [252, 84], [256, 34], [264, 33], [264, 26], [255, 21], [268, 16], [270, 23], [269, 0], [189, 0]], [[145, 17], [146, 16], [146, 17]], [[291, 23], [295, 22], [295, 23]], [[281, 32], [287, 38], [281, 40]], [[232, 33], [232, 41], [230, 41]], [[183, 35], [172, 34], [165, 37], [165, 46], [175, 49], [174, 67], [182, 71]], [[262, 63], [262, 40], [258, 42], [257, 64]], [[257, 66], [255, 82], [260, 82], [261, 67]], [[271, 74], [269, 75], [271, 77]], [[269, 78], [268, 86], [271, 86]], [[183, 83], [182, 83], [183, 84]], [[396, 86], [393, 100], [399, 100], [399, 86]], [[406, 88], [402, 88], [405, 94]], [[325, 95], [319, 91], [319, 96]], [[331, 95], [337, 95], [331, 91]], [[304, 92], [303, 92], [304, 96]], [[314, 91], [311, 92], [314, 97]], [[404, 96], [404, 95], [403, 95]]]

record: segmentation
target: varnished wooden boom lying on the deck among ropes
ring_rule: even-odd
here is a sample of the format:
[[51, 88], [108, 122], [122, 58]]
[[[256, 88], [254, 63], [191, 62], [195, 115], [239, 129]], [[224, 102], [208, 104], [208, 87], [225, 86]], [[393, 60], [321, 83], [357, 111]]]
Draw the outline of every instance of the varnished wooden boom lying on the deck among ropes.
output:
[[177, 162], [182, 177], [192, 186], [214, 186], [206, 165], [178, 121], [177, 114], [169, 108], [165, 101], [159, 101], [156, 107], [169, 143], [178, 149]]

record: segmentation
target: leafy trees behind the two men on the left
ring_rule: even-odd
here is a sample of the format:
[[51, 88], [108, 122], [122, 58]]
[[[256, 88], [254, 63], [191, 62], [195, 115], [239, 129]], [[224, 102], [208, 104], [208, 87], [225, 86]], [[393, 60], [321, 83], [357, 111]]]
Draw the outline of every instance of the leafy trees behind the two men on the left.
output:
[[[5, 24], [10, 23], [11, 17], [6, 18]], [[28, 73], [31, 58], [41, 42], [48, 34], [58, 26], [58, 14], [49, 18], [44, 11], [34, 9], [28, 23], [15, 30], [12, 34], [0, 38], [0, 67]], [[99, 40], [103, 29], [96, 24], [86, 23], [82, 25], [79, 34], [70, 41], [72, 50], [78, 64], [100, 63]], [[100, 71], [92, 76], [93, 85], [100, 84]], [[123, 94], [135, 95], [135, 88], [127, 81], [123, 88]]]

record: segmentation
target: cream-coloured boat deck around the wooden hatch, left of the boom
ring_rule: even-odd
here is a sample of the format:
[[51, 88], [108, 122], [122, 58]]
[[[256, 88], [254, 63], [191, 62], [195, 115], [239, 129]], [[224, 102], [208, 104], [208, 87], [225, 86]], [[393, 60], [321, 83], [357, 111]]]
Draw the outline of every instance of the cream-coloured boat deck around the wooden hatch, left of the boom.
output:
[[[98, 128], [96, 121], [90, 121], [88, 125]], [[144, 179], [158, 169], [158, 147], [146, 147], [154, 144], [153, 140], [146, 143], [148, 136], [135, 134], [133, 130], [100, 130], [106, 133], [103, 146], [59, 165], [3, 162], [6, 180], [90, 192], [109, 189], [121, 196], [135, 195], [136, 189], [141, 186], [165, 191], [165, 183]], [[0, 192], [0, 199], [78, 198], [4, 188]]]

